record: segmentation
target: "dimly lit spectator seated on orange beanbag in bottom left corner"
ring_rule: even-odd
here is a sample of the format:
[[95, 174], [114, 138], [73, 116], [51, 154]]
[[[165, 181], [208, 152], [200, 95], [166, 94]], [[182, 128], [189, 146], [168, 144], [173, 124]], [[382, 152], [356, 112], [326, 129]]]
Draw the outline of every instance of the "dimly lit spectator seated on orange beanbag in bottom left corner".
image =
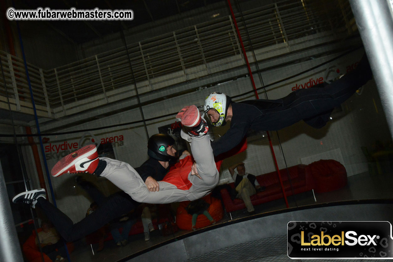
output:
[[42, 221], [41, 223], [42, 231], [38, 232], [38, 239], [36, 238], [35, 243], [40, 243], [41, 250], [45, 253], [51, 260], [56, 260], [60, 262], [66, 261], [63, 256], [66, 256], [66, 249], [64, 243], [60, 240], [56, 229], [52, 226], [50, 221]]

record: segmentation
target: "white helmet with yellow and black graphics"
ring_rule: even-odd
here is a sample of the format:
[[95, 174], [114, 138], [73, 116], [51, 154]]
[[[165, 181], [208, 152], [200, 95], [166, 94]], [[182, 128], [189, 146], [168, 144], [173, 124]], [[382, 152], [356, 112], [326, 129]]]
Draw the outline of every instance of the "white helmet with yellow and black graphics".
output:
[[211, 119], [208, 117], [211, 124], [214, 126], [226, 124], [226, 113], [231, 102], [231, 98], [221, 92], [213, 92], [206, 97], [205, 104], [203, 106], [204, 113], [206, 114], [210, 109], [215, 109], [220, 114], [219, 120], [215, 123], [211, 122]]

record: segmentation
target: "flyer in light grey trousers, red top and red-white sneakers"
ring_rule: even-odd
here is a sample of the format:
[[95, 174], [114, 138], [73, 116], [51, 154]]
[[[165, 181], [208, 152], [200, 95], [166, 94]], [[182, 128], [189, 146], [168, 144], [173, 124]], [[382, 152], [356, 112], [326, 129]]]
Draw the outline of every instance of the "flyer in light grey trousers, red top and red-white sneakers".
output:
[[[76, 158], [72, 161], [73, 154], [70, 159], [65, 157], [64, 163], [59, 163], [59, 167], [55, 166], [52, 174], [59, 175], [72, 170], [73, 166], [92, 161], [92, 168], [89, 173], [96, 173], [107, 178], [124, 192], [129, 194], [132, 199], [141, 203], [165, 204], [179, 201], [193, 201], [206, 196], [219, 182], [219, 168], [222, 161], [215, 162], [213, 150], [210, 140], [206, 135], [208, 126], [206, 121], [200, 117], [198, 108], [195, 105], [186, 106], [176, 115], [187, 131], [182, 130], [182, 138], [191, 143], [192, 157], [186, 156], [180, 159], [171, 170], [165, 175], [162, 181], [159, 181], [160, 190], [158, 192], [149, 191], [141, 179], [141, 175], [137, 169], [132, 168], [125, 162], [113, 159], [100, 158], [99, 161], [105, 161], [106, 167], [102, 170], [100, 162], [95, 163], [94, 153], [84, 153], [83, 149], [74, 152]], [[159, 155], [167, 157], [171, 155], [166, 151], [167, 144], [154, 146], [155, 151], [149, 151], [151, 156]], [[158, 150], [156, 150], [158, 148]], [[245, 148], [239, 149], [239, 151]], [[88, 148], [86, 148], [87, 151]], [[237, 149], [238, 150], [238, 149]], [[235, 150], [233, 153], [238, 153]], [[154, 153], [154, 155], [153, 155]], [[232, 153], [232, 152], [230, 152]], [[90, 159], [90, 160], [89, 160]], [[78, 168], [79, 169], [79, 168]], [[102, 171], [101, 171], [102, 170]]]

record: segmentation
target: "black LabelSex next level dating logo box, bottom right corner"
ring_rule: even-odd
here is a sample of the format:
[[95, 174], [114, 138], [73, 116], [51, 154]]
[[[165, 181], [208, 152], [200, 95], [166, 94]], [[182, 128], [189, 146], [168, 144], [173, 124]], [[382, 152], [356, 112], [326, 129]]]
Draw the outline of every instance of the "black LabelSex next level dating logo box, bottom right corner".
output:
[[290, 221], [288, 256], [293, 259], [393, 259], [387, 221]]

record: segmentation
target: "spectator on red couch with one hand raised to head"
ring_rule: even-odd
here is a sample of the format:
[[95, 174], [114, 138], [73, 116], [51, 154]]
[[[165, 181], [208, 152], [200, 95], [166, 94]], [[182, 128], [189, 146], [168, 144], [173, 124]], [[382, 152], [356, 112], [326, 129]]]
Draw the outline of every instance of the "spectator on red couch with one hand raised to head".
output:
[[[237, 173], [235, 172], [235, 168], [237, 169]], [[265, 190], [266, 187], [259, 185], [255, 175], [246, 173], [246, 168], [244, 167], [243, 162], [231, 166], [228, 170], [231, 173], [233, 181], [235, 181], [235, 188], [237, 192], [236, 197], [244, 201], [249, 213], [254, 212], [255, 209], [251, 203], [250, 196], [256, 194], [257, 190]]]

